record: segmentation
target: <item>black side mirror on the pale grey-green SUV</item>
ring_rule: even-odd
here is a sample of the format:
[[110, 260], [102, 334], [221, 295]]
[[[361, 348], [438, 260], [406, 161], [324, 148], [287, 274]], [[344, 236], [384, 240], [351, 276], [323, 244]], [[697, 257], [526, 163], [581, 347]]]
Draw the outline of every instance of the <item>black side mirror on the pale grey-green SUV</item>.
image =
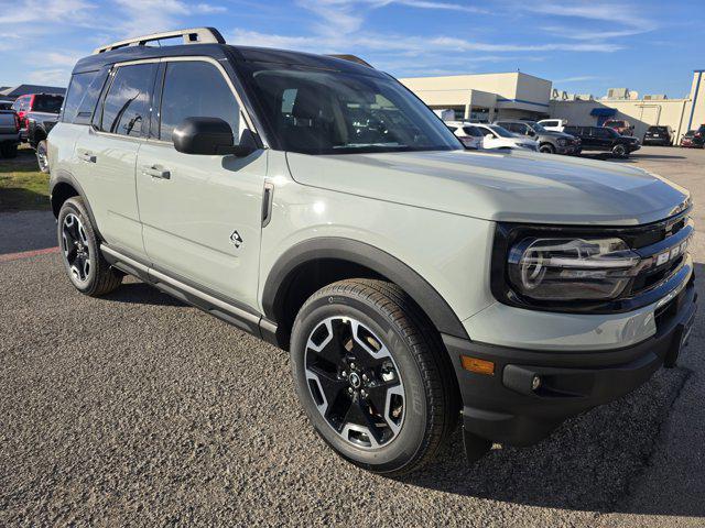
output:
[[242, 138], [241, 144], [234, 145], [232, 129], [220, 118], [186, 118], [172, 133], [174, 148], [177, 152], [205, 156], [247, 156], [257, 150], [251, 139], [251, 134], [248, 134], [247, 138]]

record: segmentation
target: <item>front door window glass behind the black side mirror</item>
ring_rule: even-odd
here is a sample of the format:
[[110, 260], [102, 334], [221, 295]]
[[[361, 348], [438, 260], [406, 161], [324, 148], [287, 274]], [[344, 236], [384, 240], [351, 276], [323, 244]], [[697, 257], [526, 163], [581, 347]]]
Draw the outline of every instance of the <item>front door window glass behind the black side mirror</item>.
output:
[[240, 109], [235, 95], [220, 70], [209, 63], [166, 64], [160, 113], [159, 136], [163, 141], [171, 141], [172, 132], [186, 118], [220, 118], [230, 124], [236, 142], [239, 136]]

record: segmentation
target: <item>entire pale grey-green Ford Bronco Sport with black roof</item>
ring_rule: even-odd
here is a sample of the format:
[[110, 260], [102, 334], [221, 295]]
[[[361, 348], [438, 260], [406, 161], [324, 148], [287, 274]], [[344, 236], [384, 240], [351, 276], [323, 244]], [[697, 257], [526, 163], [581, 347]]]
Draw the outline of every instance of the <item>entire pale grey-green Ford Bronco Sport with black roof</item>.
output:
[[210, 29], [101, 47], [48, 163], [80, 293], [134, 275], [288, 349], [313, 427], [379, 473], [429, 461], [458, 419], [470, 460], [543, 439], [673, 365], [695, 312], [685, 189], [466, 151], [347, 59]]

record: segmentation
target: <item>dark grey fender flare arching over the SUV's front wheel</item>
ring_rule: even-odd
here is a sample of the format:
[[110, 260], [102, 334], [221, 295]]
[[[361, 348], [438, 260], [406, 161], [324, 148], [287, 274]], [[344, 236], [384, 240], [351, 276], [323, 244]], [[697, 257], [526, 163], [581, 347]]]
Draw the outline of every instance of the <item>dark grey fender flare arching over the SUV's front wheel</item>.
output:
[[262, 289], [262, 308], [271, 321], [289, 292], [297, 268], [322, 258], [365, 266], [401, 287], [429, 316], [441, 333], [469, 339], [465, 327], [446, 300], [419, 273], [379, 248], [352, 239], [323, 237], [300, 242], [286, 250], [272, 266]]

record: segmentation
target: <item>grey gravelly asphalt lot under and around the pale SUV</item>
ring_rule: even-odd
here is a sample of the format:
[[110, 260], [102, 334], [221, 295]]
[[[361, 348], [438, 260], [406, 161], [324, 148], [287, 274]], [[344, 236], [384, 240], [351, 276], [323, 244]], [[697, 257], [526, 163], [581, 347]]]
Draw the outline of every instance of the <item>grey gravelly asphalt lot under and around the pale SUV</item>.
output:
[[[620, 163], [705, 200], [703, 151]], [[83, 297], [57, 255], [0, 263], [0, 526], [705, 524], [701, 315], [681, 366], [540, 444], [468, 466], [456, 435], [389, 480], [332, 455], [288, 354], [234, 327], [135, 280]]]

